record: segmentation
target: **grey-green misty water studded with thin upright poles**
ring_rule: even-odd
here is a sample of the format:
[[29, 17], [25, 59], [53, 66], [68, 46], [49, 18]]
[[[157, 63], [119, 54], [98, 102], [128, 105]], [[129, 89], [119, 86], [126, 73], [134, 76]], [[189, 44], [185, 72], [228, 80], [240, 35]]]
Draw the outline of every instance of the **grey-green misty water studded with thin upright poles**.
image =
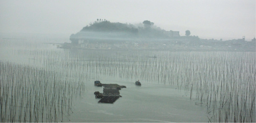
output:
[[[2, 122], [256, 122], [255, 52], [57, 49], [56, 41], [1, 39]], [[95, 80], [127, 88], [98, 103]]]

